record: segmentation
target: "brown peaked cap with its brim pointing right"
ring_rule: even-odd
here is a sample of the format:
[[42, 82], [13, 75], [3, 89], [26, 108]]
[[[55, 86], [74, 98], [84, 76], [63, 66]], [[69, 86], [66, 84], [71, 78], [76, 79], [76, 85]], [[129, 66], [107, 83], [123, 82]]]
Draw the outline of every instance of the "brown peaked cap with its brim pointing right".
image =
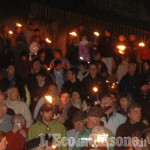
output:
[[103, 109], [97, 106], [93, 106], [87, 113], [87, 116], [102, 118], [104, 112], [107, 111], [108, 109], [110, 109], [110, 106], [103, 108]]

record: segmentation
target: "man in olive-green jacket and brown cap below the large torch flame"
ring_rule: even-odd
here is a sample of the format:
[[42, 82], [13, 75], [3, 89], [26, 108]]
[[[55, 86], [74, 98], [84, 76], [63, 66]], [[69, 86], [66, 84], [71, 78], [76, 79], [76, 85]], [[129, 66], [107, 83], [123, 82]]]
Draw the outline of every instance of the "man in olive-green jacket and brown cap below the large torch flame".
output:
[[39, 119], [29, 128], [27, 141], [38, 138], [40, 135], [52, 134], [52, 136], [56, 135], [54, 139], [58, 144], [58, 149], [67, 150], [67, 145], [60, 145], [67, 142], [64, 138], [66, 133], [65, 127], [57, 120], [52, 120], [52, 118], [53, 107], [47, 103], [43, 104], [40, 109]]

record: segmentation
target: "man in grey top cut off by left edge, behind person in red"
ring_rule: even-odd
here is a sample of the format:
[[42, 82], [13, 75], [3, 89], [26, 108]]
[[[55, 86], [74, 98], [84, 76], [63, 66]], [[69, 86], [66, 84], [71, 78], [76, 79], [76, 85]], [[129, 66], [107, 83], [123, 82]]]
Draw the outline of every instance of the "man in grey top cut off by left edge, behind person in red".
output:
[[6, 104], [0, 102], [0, 130], [4, 132], [12, 129], [11, 116], [7, 115], [6, 112]]

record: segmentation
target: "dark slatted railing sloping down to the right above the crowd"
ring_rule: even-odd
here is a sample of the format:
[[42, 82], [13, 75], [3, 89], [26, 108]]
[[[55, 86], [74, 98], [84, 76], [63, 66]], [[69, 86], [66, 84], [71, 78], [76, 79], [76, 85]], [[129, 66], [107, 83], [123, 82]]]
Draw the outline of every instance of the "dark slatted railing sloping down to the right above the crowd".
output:
[[147, 40], [150, 37], [150, 32], [140, 28], [112, 21], [102, 20], [96, 17], [84, 16], [59, 8], [53, 8], [39, 2], [31, 3], [31, 13], [34, 16], [38, 16], [40, 18], [60, 19], [61, 21], [72, 25], [84, 23], [91, 30], [99, 29], [100, 31], [104, 31], [105, 29], [109, 29], [114, 35], [124, 34], [127, 36], [133, 33], [137, 36], [138, 40]]

